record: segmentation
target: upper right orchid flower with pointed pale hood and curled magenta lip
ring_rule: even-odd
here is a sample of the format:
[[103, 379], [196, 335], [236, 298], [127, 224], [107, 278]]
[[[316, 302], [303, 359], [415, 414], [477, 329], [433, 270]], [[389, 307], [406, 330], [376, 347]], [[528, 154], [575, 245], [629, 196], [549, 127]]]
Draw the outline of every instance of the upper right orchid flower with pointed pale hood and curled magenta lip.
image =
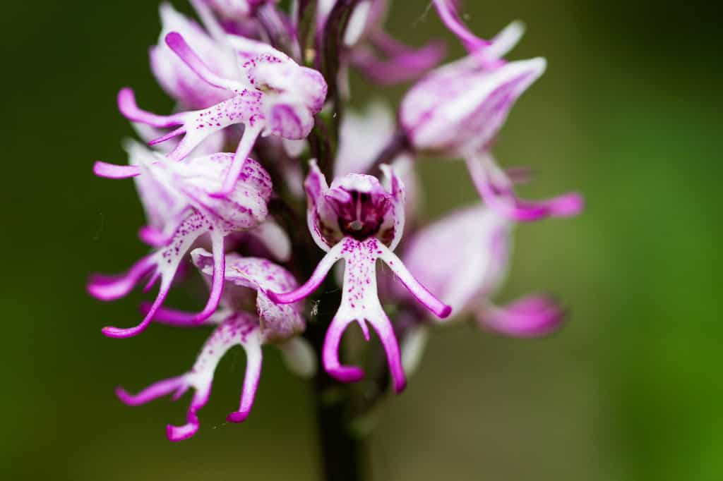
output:
[[[504, 40], [508, 33], [498, 37]], [[492, 42], [492, 47], [497, 43]], [[469, 56], [432, 71], [403, 98], [399, 118], [412, 148], [463, 157], [485, 203], [515, 221], [577, 215], [579, 194], [542, 202], [519, 199], [513, 181], [497, 167], [489, 148], [520, 95], [542, 75], [544, 58], [504, 62], [494, 68]]]

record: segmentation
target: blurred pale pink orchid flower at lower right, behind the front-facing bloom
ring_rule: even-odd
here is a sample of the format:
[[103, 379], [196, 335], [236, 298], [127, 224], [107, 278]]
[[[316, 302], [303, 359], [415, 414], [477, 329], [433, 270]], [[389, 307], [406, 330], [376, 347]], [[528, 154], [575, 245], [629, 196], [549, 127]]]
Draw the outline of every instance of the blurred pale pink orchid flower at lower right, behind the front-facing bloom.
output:
[[[513, 337], [549, 334], [564, 320], [564, 311], [547, 295], [527, 295], [508, 306], [491, 298], [508, 272], [513, 222], [483, 204], [458, 209], [419, 230], [401, 256], [409, 271], [448, 301], [455, 319], [474, 316], [486, 329]], [[454, 246], [454, 248], [450, 248]], [[444, 262], [430, 262], [445, 253]], [[450, 276], [454, 272], [454, 276]], [[401, 289], [398, 298], [408, 299]], [[413, 306], [409, 299], [409, 306]], [[424, 348], [427, 326], [435, 320], [419, 310], [402, 337], [402, 358], [414, 371]]]

